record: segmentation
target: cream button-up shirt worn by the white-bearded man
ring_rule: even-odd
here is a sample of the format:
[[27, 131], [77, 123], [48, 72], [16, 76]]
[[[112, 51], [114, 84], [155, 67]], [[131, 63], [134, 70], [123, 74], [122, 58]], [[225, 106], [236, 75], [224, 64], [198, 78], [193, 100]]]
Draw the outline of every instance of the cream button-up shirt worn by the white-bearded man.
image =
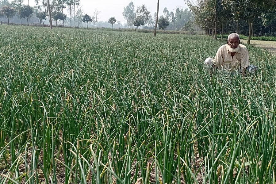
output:
[[250, 65], [248, 50], [244, 45], [240, 44], [240, 49], [232, 58], [228, 45], [222, 45], [217, 51], [213, 64], [227, 70], [245, 69]]

